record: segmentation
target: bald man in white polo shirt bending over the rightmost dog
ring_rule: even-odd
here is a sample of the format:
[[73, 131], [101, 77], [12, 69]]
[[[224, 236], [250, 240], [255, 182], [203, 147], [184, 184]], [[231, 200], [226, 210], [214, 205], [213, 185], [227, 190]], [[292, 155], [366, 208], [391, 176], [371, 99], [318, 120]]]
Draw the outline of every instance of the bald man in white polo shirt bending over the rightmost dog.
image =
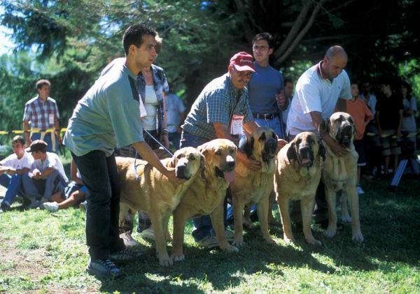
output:
[[[321, 122], [332, 115], [335, 106], [346, 112], [346, 100], [351, 99], [350, 80], [344, 67], [347, 64], [347, 54], [340, 46], [332, 46], [325, 53], [324, 59], [305, 71], [297, 80], [295, 96], [287, 119], [286, 132], [290, 140], [304, 131], [318, 135], [337, 156], [344, 156], [349, 152], [332, 140], [327, 133], [319, 134]], [[323, 228], [328, 226], [328, 206], [325, 201], [323, 183], [320, 182], [316, 191], [316, 206], [314, 219]], [[295, 221], [297, 230], [302, 228], [302, 214], [300, 203], [295, 202], [290, 214]]]

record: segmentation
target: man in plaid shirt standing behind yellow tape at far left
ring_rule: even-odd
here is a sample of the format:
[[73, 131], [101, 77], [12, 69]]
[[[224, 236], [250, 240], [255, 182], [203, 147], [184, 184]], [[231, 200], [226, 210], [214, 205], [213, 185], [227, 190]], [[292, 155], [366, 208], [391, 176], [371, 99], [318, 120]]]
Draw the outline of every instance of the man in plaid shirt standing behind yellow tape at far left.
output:
[[[59, 112], [55, 100], [49, 97], [50, 85], [48, 80], [36, 82], [38, 96], [31, 98], [25, 104], [23, 131], [28, 145], [34, 140], [41, 139], [48, 144], [48, 152], [58, 153], [58, 145], [62, 144], [59, 133]], [[29, 124], [31, 124], [30, 131]]]

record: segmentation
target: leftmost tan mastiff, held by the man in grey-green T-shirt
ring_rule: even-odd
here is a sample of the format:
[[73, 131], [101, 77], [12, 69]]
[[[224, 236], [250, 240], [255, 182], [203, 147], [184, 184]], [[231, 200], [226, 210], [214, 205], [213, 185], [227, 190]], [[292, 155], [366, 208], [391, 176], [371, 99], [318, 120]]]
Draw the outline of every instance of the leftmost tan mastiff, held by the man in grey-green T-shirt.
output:
[[204, 156], [197, 149], [186, 147], [176, 151], [171, 158], [161, 160], [167, 168], [175, 169], [176, 177], [187, 179], [181, 185], [170, 182], [147, 161], [137, 160], [135, 167], [132, 158], [116, 157], [116, 161], [121, 180], [120, 221], [130, 208], [146, 212], [155, 230], [159, 263], [162, 266], [172, 265], [165, 240], [169, 217], [183, 193], [204, 172]]

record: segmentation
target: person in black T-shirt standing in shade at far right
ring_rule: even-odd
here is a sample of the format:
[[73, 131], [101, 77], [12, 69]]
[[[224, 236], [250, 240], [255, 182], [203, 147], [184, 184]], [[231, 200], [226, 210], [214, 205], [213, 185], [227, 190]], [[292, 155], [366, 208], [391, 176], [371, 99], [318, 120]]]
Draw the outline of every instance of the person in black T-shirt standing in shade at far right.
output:
[[390, 178], [388, 170], [391, 154], [394, 156], [394, 172], [398, 168], [398, 155], [401, 154], [397, 139], [401, 138], [402, 98], [400, 95], [393, 93], [391, 84], [391, 80], [386, 78], [379, 82], [383, 95], [379, 97], [376, 105], [378, 135], [383, 147], [382, 155], [385, 157], [384, 179]]

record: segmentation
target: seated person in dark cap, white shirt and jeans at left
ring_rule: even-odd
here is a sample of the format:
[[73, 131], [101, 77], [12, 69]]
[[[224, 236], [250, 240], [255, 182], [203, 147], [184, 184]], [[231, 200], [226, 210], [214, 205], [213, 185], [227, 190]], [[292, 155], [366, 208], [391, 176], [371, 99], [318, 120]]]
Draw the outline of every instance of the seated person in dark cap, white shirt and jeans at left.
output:
[[32, 172], [22, 177], [26, 198], [31, 200], [26, 209], [40, 207], [47, 201], [59, 201], [61, 196], [57, 192], [64, 190], [68, 179], [58, 155], [47, 152], [47, 143], [43, 140], [33, 141], [27, 152], [31, 152], [34, 163]]

